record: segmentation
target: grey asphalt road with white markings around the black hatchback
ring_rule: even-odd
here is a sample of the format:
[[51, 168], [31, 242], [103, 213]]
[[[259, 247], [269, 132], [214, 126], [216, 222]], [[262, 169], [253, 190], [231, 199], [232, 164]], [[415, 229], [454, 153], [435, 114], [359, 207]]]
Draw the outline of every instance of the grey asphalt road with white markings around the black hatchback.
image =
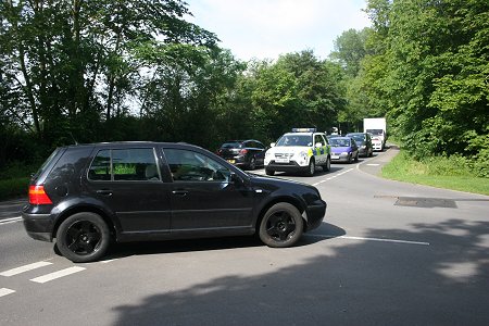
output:
[[130, 243], [73, 264], [5, 220], [20, 203], [3, 203], [0, 325], [489, 325], [489, 197], [375, 176], [394, 153], [278, 174], [328, 203], [288, 249]]

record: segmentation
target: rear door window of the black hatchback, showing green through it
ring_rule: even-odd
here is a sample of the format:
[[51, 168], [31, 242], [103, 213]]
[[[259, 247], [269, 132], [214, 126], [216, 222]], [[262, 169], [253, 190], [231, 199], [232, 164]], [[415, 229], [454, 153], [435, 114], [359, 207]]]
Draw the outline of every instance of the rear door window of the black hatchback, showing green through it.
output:
[[161, 180], [152, 148], [101, 150], [93, 159], [91, 180]]

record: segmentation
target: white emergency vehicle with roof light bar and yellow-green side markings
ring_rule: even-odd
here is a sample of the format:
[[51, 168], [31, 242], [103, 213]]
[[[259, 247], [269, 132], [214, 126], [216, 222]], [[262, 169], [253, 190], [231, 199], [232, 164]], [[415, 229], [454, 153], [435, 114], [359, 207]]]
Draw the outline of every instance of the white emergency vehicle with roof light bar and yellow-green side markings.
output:
[[324, 133], [317, 133], [315, 128], [293, 128], [276, 143], [271, 143], [271, 149], [265, 153], [265, 173], [302, 172], [312, 176], [316, 166], [329, 171], [330, 154], [331, 147]]

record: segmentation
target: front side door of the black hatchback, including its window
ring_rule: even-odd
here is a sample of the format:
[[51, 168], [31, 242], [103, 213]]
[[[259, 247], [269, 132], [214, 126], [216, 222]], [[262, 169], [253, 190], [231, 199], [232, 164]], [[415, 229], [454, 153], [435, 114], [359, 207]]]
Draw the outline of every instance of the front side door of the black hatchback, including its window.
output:
[[172, 233], [228, 233], [252, 225], [253, 191], [229, 166], [190, 149], [165, 148], [172, 173]]

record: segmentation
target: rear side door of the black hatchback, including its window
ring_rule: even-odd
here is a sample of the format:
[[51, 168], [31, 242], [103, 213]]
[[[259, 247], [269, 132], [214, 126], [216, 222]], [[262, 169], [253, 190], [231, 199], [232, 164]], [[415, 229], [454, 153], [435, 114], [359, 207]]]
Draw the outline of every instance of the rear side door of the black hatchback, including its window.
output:
[[170, 185], [153, 147], [105, 148], [88, 170], [87, 190], [116, 218], [122, 235], [170, 233]]

